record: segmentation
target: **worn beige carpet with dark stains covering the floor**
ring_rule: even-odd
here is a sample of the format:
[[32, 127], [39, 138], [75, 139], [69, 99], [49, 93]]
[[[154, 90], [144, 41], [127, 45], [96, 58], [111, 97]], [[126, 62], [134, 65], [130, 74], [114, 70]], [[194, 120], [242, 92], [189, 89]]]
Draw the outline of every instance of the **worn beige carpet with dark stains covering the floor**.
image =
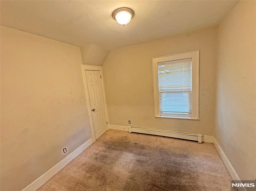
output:
[[38, 191], [230, 191], [213, 144], [108, 130]]

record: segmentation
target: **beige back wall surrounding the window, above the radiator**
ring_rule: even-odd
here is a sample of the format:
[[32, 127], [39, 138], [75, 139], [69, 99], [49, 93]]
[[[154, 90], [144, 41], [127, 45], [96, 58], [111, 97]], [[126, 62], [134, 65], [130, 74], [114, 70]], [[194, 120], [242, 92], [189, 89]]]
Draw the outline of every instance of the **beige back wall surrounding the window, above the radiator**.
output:
[[[110, 51], [103, 64], [110, 124], [213, 135], [215, 27]], [[154, 117], [152, 57], [200, 50], [200, 120]]]

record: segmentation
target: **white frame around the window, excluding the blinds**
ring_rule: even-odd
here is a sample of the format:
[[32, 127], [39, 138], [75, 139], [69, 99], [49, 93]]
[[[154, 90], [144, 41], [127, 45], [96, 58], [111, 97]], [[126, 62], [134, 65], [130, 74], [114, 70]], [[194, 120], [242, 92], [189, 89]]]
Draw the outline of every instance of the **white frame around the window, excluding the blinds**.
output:
[[[158, 84], [158, 63], [191, 58], [192, 91], [191, 117], [161, 116]], [[199, 120], [199, 50], [152, 58], [155, 117]]]

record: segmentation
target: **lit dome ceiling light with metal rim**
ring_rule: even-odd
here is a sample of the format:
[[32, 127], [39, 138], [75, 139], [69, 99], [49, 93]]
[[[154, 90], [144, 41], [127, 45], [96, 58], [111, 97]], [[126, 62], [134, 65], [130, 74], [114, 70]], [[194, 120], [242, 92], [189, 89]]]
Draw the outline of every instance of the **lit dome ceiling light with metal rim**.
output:
[[122, 7], [112, 12], [112, 17], [122, 26], [130, 22], [134, 16], [134, 11], [128, 7]]

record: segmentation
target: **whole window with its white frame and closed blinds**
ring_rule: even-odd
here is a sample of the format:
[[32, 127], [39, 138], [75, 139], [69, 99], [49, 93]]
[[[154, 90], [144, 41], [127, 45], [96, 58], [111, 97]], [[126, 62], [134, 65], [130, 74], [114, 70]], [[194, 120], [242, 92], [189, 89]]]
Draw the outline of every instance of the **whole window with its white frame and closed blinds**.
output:
[[152, 61], [155, 116], [199, 119], [199, 51]]

